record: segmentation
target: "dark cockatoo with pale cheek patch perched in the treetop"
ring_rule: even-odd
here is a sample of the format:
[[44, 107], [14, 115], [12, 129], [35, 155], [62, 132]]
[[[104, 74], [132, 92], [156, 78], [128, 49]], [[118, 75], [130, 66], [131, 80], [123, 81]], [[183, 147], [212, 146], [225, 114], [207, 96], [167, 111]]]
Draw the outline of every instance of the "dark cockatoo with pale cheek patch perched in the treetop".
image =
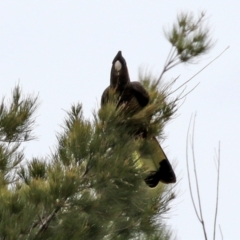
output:
[[[109, 93], [113, 90], [117, 95], [118, 101], [116, 108], [124, 105], [128, 112], [137, 113], [146, 107], [149, 103], [150, 96], [147, 90], [140, 82], [130, 81], [126, 60], [122, 52], [118, 51], [112, 61], [110, 72], [110, 85], [104, 90], [101, 97], [101, 106], [109, 101]], [[142, 138], [148, 148], [147, 153], [141, 156], [143, 165], [147, 166], [148, 173], [145, 182], [150, 188], [154, 188], [159, 182], [165, 184], [175, 183], [176, 175], [171, 163], [160, 146], [155, 136], [148, 136], [147, 129], [139, 127], [134, 132], [137, 138]]]

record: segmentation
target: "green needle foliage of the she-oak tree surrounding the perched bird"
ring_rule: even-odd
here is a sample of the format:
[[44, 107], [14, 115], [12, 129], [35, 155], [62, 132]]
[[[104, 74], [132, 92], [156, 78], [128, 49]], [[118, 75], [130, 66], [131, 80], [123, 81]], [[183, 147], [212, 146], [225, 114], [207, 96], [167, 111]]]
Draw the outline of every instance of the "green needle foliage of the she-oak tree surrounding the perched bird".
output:
[[[177, 31], [174, 34], [176, 38]], [[160, 78], [140, 77], [150, 95], [147, 107], [126, 118], [121, 107], [116, 110], [113, 93], [89, 121], [82, 105], [73, 105], [47, 161], [33, 158], [22, 163], [21, 143], [34, 138], [37, 97], [22, 97], [16, 87], [10, 104], [2, 101], [0, 239], [170, 238], [163, 216], [174, 193], [164, 184], [154, 189], [145, 184], [136, 154], [143, 151], [144, 143], [127, 134], [129, 128], [144, 124], [152, 135], [162, 137], [165, 124], [177, 110], [180, 96], [169, 99], [171, 83], [159, 84], [168, 67], [178, 64], [176, 59], [187, 62], [176, 44], [170, 43], [175, 51]], [[191, 52], [194, 56], [188, 58], [192, 61], [196, 51]]]

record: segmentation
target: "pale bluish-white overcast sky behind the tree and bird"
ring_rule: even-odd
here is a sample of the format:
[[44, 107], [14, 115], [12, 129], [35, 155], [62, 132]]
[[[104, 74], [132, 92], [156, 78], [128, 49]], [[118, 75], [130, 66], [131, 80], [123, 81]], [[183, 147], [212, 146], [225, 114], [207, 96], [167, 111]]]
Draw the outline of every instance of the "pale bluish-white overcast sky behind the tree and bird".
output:
[[[221, 239], [219, 224], [225, 240], [240, 239], [239, 9], [240, 3], [232, 0], [0, 0], [0, 97], [9, 97], [19, 83], [24, 93], [39, 94], [41, 102], [36, 114], [38, 140], [26, 145], [28, 159], [44, 157], [54, 148], [71, 104], [81, 102], [85, 117], [92, 117], [109, 85], [111, 62], [118, 50], [127, 61], [131, 80], [138, 80], [139, 69], [158, 76], [170, 50], [163, 29], [169, 29], [181, 12], [197, 16], [205, 11], [214, 47], [197, 63], [170, 71], [165, 82], [180, 75], [175, 86], [181, 85], [230, 48], [188, 84], [190, 90], [200, 83], [165, 129], [162, 145], [178, 178], [167, 224], [176, 239], [204, 239], [186, 171], [187, 130], [196, 113], [195, 155], [208, 237], [212, 239], [213, 234], [214, 159], [220, 141], [216, 239]], [[192, 164], [190, 169], [193, 177]]]

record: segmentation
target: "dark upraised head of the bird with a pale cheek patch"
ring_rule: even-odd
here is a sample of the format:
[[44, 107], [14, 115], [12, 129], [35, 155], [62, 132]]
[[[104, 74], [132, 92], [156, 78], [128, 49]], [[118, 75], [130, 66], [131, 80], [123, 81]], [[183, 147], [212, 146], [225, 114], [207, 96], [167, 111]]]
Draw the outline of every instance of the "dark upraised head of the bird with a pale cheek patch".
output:
[[130, 82], [128, 68], [122, 52], [119, 51], [112, 61], [110, 85], [117, 89], [123, 89]]

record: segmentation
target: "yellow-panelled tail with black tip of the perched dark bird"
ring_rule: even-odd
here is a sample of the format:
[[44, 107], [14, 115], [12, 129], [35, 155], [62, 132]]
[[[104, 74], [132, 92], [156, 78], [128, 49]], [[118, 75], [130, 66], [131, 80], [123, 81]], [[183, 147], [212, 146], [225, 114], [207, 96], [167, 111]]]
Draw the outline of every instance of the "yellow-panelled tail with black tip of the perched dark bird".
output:
[[141, 161], [147, 169], [146, 184], [153, 188], [158, 182], [175, 183], [176, 175], [157, 139], [145, 139], [144, 145]]

